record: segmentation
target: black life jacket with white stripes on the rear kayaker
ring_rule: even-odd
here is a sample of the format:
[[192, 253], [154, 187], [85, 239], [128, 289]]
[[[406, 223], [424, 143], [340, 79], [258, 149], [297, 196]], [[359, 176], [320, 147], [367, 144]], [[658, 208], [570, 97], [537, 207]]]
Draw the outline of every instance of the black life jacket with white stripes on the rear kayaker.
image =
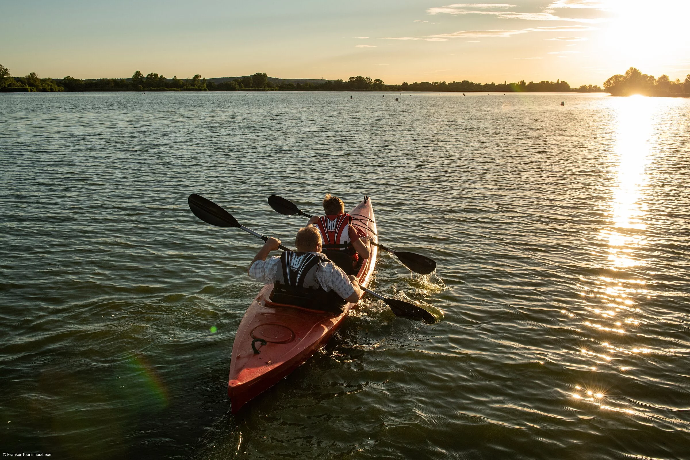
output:
[[[319, 262], [331, 262], [311, 252], [285, 251], [280, 254], [278, 279], [273, 283], [270, 301], [310, 310], [342, 313], [347, 301], [335, 291], [319, 286], [316, 270]], [[331, 262], [332, 263], [332, 262]]]

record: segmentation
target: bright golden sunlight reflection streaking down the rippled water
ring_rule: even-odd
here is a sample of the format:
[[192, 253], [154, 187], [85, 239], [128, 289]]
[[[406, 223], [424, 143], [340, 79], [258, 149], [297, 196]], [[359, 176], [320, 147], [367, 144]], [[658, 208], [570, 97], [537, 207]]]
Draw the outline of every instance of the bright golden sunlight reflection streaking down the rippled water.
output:
[[[580, 293], [585, 299], [598, 298], [600, 301], [599, 306], [590, 303], [586, 307], [593, 317], [584, 321], [584, 326], [601, 334], [602, 343], [600, 346], [584, 346], [580, 350], [591, 360], [592, 370], [597, 370], [597, 366], [607, 366], [626, 372], [631, 370], [631, 366], [620, 366], [616, 361], [629, 356], [644, 359], [645, 354], [652, 352], [649, 348], [623, 343], [612, 345], [609, 341], [625, 341], [625, 334], [638, 330], [642, 323], [638, 319], [641, 310], [636, 307], [638, 302], [635, 299], [648, 294], [645, 280], [631, 279], [623, 270], [644, 266], [645, 263], [637, 252], [648, 243], [645, 194], [649, 177], [646, 171], [651, 161], [654, 112], [652, 98], [629, 97], [620, 99], [618, 104], [615, 146], [610, 157], [615, 181], [611, 199], [606, 205], [607, 223], [598, 234], [598, 239], [606, 245], [609, 274], [600, 275], [591, 291]], [[580, 389], [579, 386], [577, 388]], [[600, 389], [588, 390], [584, 394], [575, 392], [572, 396], [600, 409], [640, 414], [629, 407], [607, 405]], [[626, 405], [620, 399], [616, 402], [618, 406]]]

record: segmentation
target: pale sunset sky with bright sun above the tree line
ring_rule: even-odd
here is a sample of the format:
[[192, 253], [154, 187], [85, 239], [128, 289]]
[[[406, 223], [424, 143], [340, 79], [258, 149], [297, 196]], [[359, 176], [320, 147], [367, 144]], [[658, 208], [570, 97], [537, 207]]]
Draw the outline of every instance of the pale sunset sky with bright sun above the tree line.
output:
[[[690, 0], [3, 1], [0, 64], [21, 77], [602, 83], [690, 74]], [[453, 1], [453, 0], [450, 0]]]

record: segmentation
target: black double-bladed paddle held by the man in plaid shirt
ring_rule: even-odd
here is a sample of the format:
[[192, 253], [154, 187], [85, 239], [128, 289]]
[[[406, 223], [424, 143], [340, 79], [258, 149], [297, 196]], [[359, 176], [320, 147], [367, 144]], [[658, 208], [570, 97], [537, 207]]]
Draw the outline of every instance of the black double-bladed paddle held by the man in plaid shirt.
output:
[[[189, 208], [192, 210], [194, 215], [199, 217], [199, 219], [202, 221], [210, 223], [212, 226], [242, 228], [242, 230], [245, 232], [253, 234], [255, 237], [261, 238], [264, 241], [267, 239], [267, 237], [264, 237], [264, 235], [241, 225], [237, 219], [230, 214], [230, 212], [224, 210], [213, 201], [210, 201], [210, 199], [206, 199], [201, 197], [201, 195], [193, 193], [189, 195], [188, 202]], [[283, 245], [280, 245], [279, 248], [284, 251], [290, 250], [290, 248], [286, 248]], [[397, 317], [420, 319], [427, 324], [433, 324], [436, 322], [436, 318], [433, 316], [433, 314], [427, 312], [424, 310], [424, 308], [413, 305], [412, 303], [404, 302], [402, 300], [386, 299], [386, 297], [383, 297], [381, 294], [377, 294], [371, 289], [364, 288], [364, 286], [360, 287], [369, 294], [386, 302]]]

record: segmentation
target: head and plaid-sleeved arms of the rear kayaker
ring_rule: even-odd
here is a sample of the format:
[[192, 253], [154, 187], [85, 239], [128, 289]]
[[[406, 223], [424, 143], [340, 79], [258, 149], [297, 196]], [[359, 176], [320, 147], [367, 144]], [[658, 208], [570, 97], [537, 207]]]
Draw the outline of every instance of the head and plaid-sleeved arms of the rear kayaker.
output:
[[[250, 263], [247, 274], [250, 278], [255, 279], [264, 284], [275, 283], [282, 277], [282, 265], [279, 256], [268, 257], [271, 251], [277, 250], [281, 241], [275, 238], [266, 239], [266, 243], [259, 250]], [[317, 263], [316, 270], [313, 272], [313, 278], [305, 281], [312, 284], [316, 283], [320, 288], [326, 292], [333, 291], [342, 299], [357, 303], [362, 297], [362, 290], [359, 288], [357, 278], [350, 275], [348, 277], [345, 272], [328, 260], [326, 255], [322, 254], [322, 239], [321, 234], [317, 228], [309, 226], [300, 228], [295, 237], [295, 246], [298, 252], [306, 252], [308, 254], [316, 254], [326, 260], [321, 260]]]

